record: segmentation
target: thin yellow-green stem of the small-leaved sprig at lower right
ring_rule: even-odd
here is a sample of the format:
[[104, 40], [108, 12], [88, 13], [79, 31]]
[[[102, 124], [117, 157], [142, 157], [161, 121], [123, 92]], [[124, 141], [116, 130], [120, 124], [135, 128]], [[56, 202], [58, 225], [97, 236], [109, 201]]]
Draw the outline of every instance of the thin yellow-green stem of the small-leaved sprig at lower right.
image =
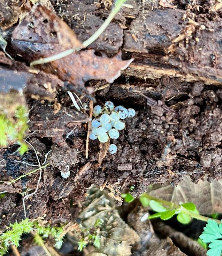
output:
[[209, 218], [209, 217], [206, 217], [206, 216], [203, 216], [203, 215], [200, 215], [200, 214], [188, 211], [187, 209], [185, 209], [184, 207], [181, 207], [178, 204], [174, 204], [174, 203], [171, 203], [169, 201], [165, 201], [163, 199], [160, 199], [160, 198], [157, 198], [157, 197], [154, 197], [154, 196], [150, 196], [148, 194], [143, 194], [143, 196], [145, 196], [149, 200], [155, 200], [155, 201], [157, 201], [157, 202], [159, 202], [159, 203], [161, 203], [163, 205], [169, 206], [169, 208], [180, 209], [181, 212], [184, 212], [184, 213], [188, 214], [190, 217], [192, 217], [192, 218], [194, 218], [196, 220], [202, 220], [202, 221], [205, 221], [205, 222], [207, 222], [208, 220], [215, 220], [218, 224], [221, 224], [220, 220], [212, 219], [212, 218]]

